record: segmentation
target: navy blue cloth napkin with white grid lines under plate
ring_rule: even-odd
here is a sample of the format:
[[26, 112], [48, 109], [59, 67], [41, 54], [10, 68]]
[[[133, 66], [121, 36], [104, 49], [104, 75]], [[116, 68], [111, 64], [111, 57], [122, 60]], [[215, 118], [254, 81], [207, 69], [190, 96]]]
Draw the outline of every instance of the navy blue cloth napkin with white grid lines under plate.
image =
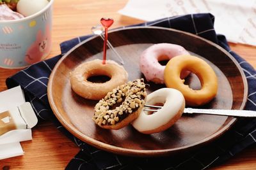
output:
[[[209, 13], [163, 18], [139, 26], [170, 27], [191, 32], [222, 46], [239, 62], [248, 81], [246, 110], [256, 110], [256, 72], [248, 62], [230, 50], [225, 36], [214, 31], [214, 16]], [[134, 25], [131, 25], [134, 26]], [[29, 66], [6, 80], [8, 88], [20, 85], [26, 100], [31, 102], [38, 118], [51, 120], [65, 135], [81, 148], [66, 169], [206, 169], [230, 159], [244, 148], [256, 143], [256, 118], [239, 118], [236, 124], [214, 142], [200, 146], [180, 156], [136, 158], [98, 150], [75, 138], [54, 117], [47, 99], [47, 81], [52, 68], [70, 48], [92, 35], [81, 36], [61, 43], [61, 54]]]

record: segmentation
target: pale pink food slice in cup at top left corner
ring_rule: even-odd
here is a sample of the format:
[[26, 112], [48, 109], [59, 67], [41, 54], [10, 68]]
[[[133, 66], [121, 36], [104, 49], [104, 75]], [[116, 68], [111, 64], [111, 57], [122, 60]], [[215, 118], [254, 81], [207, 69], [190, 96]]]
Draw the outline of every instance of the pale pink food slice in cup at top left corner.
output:
[[6, 4], [0, 5], [0, 20], [17, 20], [20, 18], [24, 18], [24, 16], [12, 11]]

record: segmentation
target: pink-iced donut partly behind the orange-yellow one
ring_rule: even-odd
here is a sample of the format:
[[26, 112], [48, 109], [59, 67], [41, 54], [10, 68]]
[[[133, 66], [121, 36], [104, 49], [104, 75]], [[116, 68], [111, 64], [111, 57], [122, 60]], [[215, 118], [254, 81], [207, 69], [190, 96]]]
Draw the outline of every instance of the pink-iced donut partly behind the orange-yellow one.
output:
[[[189, 52], [180, 45], [170, 43], [159, 43], [148, 47], [140, 56], [140, 70], [147, 81], [164, 83], [164, 67], [159, 61], [169, 60], [177, 55], [189, 55]], [[188, 76], [189, 72], [184, 71], [181, 78]]]

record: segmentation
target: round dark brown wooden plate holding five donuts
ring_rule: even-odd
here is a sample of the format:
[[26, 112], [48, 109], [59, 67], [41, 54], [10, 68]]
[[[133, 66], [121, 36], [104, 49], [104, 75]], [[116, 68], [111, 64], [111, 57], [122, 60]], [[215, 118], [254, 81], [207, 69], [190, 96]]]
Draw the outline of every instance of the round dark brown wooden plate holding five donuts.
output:
[[[201, 108], [243, 110], [248, 93], [241, 67], [233, 57], [218, 45], [203, 38], [174, 29], [160, 27], [129, 27], [109, 32], [109, 41], [124, 59], [129, 80], [143, 77], [139, 56], [154, 43], [175, 43], [184, 46], [193, 55], [206, 60], [218, 76], [218, 94], [211, 103]], [[69, 73], [82, 62], [102, 59], [103, 41], [94, 36], [75, 46], [54, 67], [48, 84], [51, 108], [61, 124], [74, 136], [102, 150], [122, 155], [159, 156], [188, 150], [216, 139], [236, 122], [234, 117], [215, 115], [182, 115], [182, 118], [164, 132], [145, 135], [131, 125], [118, 131], [101, 129], [92, 121], [97, 101], [83, 99], [70, 88]], [[108, 50], [108, 59], [116, 60]], [[200, 88], [194, 74], [186, 79], [193, 88]], [[153, 90], [164, 87], [149, 83]]]

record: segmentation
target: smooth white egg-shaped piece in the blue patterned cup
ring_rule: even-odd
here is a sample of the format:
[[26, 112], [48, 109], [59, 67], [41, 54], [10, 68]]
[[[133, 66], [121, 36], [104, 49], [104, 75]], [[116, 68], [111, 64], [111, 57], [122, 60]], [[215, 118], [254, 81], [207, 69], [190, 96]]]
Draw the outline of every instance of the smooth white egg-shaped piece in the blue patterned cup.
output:
[[17, 12], [28, 17], [41, 11], [49, 1], [47, 0], [19, 0], [17, 3]]

